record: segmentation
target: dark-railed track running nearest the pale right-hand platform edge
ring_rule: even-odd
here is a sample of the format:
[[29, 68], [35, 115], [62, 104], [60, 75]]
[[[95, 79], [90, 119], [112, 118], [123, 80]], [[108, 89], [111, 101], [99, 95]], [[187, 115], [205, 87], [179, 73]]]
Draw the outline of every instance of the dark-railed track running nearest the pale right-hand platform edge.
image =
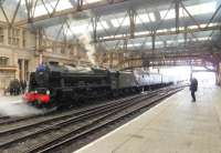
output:
[[[94, 131], [97, 131], [102, 128], [104, 128], [105, 125], [107, 124], [112, 124], [118, 120], [122, 120], [123, 118], [126, 118], [141, 109], [144, 109], [144, 106], [149, 106], [151, 105], [152, 103], [166, 98], [166, 96], [169, 96], [176, 92], [180, 91], [180, 89], [177, 89], [177, 90], [172, 90], [168, 93], [165, 93], [165, 94], [161, 94], [161, 95], [157, 95], [155, 96], [154, 99], [151, 99], [147, 104], [145, 105], [140, 105], [136, 109], [134, 109], [133, 111], [129, 111], [129, 112], [126, 112], [125, 114], [120, 115], [120, 116], [117, 116], [116, 119], [112, 119], [112, 120], [106, 120], [108, 119], [109, 116], [113, 116], [116, 114], [116, 112], [110, 112], [104, 116], [101, 116], [98, 118], [97, 120], [91, 122], [90, 124], [87, 125], [83, 125], [78, 129], [75, 129], [75, 130], [72, 130], [70, 132], [66, 132], [64, 133], [63, 135], [60, 135], [60, 136], [54, 136], [53, 139], [50, 139], [48, 142], [44, 142], [43, 144], [39, 144], [39, 145], [35, 145], [33, 146], [32, 149], [28, 150], [25, 153], [34, 153], [34, 152], [38, 152], [38, 153], [44, 153], [44, 152], [49, 152], [49, 151], [52, 151], [61, 145], [64, 145], [65, 143], [69, 143], [71, 141], [74, 141], [74, 140], [77, 140], [82, 136], [85, 136]], [[105, 120], [105, 121], [104, 121]], [[71, 136], [71, 134], [74, 134], [74, 136]]]

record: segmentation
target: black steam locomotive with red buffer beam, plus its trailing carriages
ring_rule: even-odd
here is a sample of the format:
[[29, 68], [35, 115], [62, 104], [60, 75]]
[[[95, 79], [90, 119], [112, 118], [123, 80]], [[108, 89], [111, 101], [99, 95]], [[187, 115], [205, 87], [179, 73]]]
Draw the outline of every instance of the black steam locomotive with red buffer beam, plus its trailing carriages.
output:
[[135, 94], [171, 83], [160, 74], [48, 63], [30, 74], [23, 99], [38, 108], [64, 106], [94, 99]]

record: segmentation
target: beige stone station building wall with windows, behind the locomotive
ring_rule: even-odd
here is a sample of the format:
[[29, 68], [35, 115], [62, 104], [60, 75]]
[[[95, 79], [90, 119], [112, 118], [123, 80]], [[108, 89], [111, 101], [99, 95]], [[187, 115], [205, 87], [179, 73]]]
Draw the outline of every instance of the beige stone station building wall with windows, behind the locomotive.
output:
[[[49, 40], [43, 40], [46, 42]], [[51, 45], [53, 47], [53, 45]], [[13, 79], [29, 80], [30, 72], [39, 65], [38, 37], [24, 28], [9, 28], [0, 23], [0, 94]], [[76, 63], [86, 59], [83, 49], [64, 45], [44, 49], [45, 62]]]

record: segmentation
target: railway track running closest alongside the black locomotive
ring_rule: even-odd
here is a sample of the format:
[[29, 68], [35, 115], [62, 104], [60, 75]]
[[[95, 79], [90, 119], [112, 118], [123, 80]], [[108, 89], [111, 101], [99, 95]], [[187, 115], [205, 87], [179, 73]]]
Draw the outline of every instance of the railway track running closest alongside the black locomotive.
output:
[[[151, 94], [154, 93], [155, 92], [152, 92]], [[24, 118], [18, 118], [18, 119], [12, 118], [11, 120], [7, 120], [0, 123], [0, 136], [9, 134], [9, 133], [12, 134], [22, 130], [28, 130], [29, 128], [32, 128], [32, 126], [36, 128], [36, 125], [42, 125], [42, 124], [45, 124], [46, 122], [55, 122], [59, 120], [65, 120], [66, 118], [70, 118], [70, 116], [83, 114], [88, 111], [96, 111], [97, 109], [108, 106], [108, 105], [110, 106], [110, 105], [120, 103], [123, 101], [133, 100], [133, 99], [136, 99], [137, 96], [139, 95], [133, 95], [129, 98], [109, 102], [107, 104], [97, 104], [97, 105], [93, 105], [88, 108], [64, 112], [61, 114], [60, 112], [59, 113], [53, 112], [51, 114], [41, 114], [41, 115], [24, 116]]]

